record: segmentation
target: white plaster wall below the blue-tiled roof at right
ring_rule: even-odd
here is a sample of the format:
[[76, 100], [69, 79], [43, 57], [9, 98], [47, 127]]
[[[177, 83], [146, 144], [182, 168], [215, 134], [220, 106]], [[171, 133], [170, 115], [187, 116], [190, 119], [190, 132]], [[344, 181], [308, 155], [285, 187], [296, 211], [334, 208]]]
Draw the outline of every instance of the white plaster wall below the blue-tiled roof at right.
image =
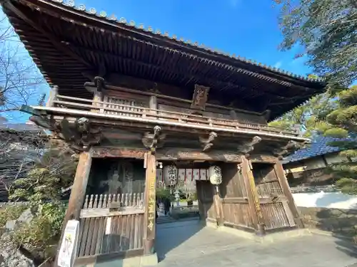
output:
[[296, 206], [331, 209], [357, 209], [357, 195], [340, 192], [296, 193], [293, 194]]

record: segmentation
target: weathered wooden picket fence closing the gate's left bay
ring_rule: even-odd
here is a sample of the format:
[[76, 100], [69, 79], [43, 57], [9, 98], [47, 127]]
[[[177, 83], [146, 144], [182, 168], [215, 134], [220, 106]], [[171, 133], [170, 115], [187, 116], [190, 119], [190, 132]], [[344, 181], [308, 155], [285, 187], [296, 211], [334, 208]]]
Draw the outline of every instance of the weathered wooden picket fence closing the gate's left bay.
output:
[[143, 238], [144, 193], [86, 196], [77, 257], [141, 250]]

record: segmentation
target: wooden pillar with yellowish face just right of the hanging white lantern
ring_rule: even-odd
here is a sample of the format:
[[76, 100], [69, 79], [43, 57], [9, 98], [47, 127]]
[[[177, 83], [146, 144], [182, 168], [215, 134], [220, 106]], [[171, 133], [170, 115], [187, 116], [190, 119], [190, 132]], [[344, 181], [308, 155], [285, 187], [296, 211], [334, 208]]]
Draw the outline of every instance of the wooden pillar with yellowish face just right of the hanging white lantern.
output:
[[254, 228], [256, 229], [256, 234], [258, 236], [265, 235], [264, 219], [263, 214], [261, 213], [261, 204], [259, 201], [258, 192], [256, 191], [256, 183], [254, 182], [253, 172], [251, 163], [242, 156], [242, 174], [244, 179], [244, 184], [246, 184], [247, 195], [248, 195], [248, 204], [249, 209], [251, 210], [251, 216], [253, 219]]

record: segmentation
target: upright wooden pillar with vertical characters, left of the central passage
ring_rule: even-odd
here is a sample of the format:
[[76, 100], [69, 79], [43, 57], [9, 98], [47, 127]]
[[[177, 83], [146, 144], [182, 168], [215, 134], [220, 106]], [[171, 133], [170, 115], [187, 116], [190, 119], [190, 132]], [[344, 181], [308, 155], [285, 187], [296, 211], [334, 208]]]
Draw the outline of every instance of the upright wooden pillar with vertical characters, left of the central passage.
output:
[[155, 218], [156, 218], [156, 157], [146, 152], [145, 214], [144, 214], [144, 254], [155, 253]]

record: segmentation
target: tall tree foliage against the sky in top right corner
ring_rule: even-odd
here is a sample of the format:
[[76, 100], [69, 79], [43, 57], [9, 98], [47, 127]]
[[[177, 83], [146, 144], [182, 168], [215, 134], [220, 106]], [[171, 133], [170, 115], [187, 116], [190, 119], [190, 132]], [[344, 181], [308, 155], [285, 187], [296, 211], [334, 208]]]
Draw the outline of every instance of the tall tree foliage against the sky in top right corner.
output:
[[357, 80], [357, 2], [273, 0], [281, 7], [282, 50], [298, 49], [308, 66], [334, 90]]

